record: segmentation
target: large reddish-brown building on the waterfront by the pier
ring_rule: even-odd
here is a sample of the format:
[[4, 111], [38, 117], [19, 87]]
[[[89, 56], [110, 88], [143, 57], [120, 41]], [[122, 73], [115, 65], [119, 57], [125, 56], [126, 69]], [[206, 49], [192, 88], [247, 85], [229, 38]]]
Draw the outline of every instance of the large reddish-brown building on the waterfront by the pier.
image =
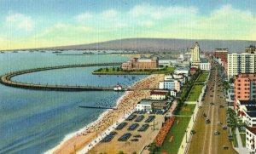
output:
[[133, 58], [130, 61], [127, 61], [122, 64], [122, 69], [131, 71], [131, 70], [154, 70], [159, 66], [158, 57], [152, 58], [152, 60], [138, 60]]

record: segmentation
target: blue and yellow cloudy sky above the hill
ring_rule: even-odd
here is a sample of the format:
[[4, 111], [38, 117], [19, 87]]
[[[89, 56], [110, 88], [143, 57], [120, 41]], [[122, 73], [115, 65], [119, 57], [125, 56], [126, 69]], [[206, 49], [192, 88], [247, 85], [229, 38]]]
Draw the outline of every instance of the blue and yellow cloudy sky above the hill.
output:
[[255, 0], [0, 0], [0, 50], [136, 37], [256, 40]]

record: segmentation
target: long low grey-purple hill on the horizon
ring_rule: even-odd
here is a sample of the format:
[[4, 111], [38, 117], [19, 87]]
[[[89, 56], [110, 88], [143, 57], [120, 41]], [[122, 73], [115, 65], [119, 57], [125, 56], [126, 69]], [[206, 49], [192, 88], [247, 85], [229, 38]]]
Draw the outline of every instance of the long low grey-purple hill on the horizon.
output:
[[52, 47], [47, 49], [126, 49], [137, 51], [172, 51], [185, 52], [198, 42], [202, 51], [214, 51], [215, 48], [229, 48], [230, 52], [244, 52], [249, 45], [256, 41], [234, 40], [195, 40], [168, 38], [127, 38], [102, 43], [79, 44], [72, 46]]

